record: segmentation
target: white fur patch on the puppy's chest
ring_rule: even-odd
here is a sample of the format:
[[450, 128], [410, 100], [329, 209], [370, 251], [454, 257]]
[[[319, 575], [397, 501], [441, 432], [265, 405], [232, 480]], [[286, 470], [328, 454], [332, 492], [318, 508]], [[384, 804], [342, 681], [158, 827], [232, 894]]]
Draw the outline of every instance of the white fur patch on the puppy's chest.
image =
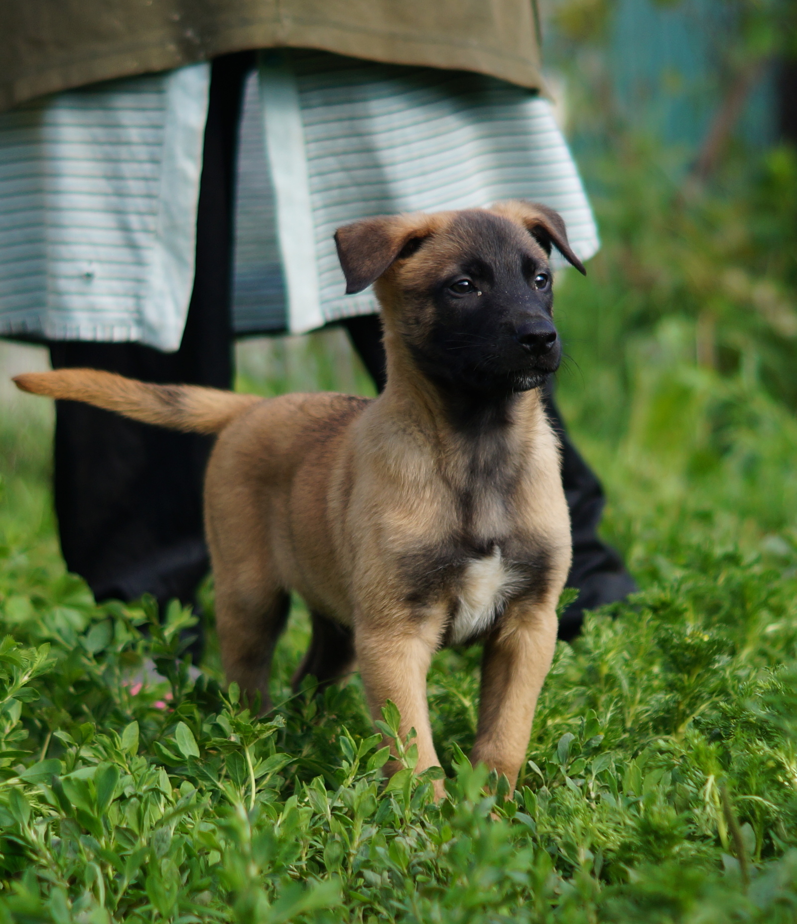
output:
[[460, 605], [450, 626], [452, 644], [460, 645], [484, 632], [519, 584], [519, 577], [504, 564], [498, 546], [491, 555], [469, 562], [462, 579]]

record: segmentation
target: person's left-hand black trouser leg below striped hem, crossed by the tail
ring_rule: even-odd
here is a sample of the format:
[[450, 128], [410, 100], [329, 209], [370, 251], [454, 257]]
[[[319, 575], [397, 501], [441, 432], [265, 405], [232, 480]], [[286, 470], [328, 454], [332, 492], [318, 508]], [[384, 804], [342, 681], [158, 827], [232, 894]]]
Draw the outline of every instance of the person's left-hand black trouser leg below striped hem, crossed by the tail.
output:
[[[135, 344], [59, 343], [54, 369], [90, 367], [176, 382], [176, 356]], [[172, 373], [172, 374], [170, 374]], [[207, 570], [202, 472], [208, 438], [159, 430], [88, 405], [55, 410], [55, 514], [67, 568], [98, 601], [193, 599]]]

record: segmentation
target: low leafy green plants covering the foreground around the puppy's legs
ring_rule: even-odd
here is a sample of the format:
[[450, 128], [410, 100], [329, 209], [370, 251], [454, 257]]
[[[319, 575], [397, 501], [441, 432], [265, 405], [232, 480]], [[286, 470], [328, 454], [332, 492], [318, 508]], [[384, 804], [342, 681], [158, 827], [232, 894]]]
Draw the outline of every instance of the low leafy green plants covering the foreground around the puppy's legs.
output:
[[189, 612], [160, 626], [151, 602], [96, 606], [76, 578], [32, 574], [26, 608], [6, 555], [0, 916], [790, 920], [789, 561], [681, 545], [649, 590], [591, 616], [558, 648], [514, 794], [463, 755], [478, 651], [441, 652], [430, 697], [448, 798], [435, 804], [411, 738], [405, 769], [381, 777], [395, 707], [374, 733], [356, 678], [289, 693], [296, 634], [277, 656], [280, 705], [257, 718], [182, 658]]

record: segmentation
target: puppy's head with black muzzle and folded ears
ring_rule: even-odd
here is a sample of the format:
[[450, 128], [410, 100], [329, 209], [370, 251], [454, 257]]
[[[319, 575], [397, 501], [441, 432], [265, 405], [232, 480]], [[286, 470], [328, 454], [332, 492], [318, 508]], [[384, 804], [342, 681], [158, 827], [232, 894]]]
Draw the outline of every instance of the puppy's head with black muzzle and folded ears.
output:
[[526, 391], [558, 369], [552, 247], [584, 273], [558, 213], [531, 202], [366, 218], [338, 228], [347, 292], [376, 283], [388, 331], [434, 380]]

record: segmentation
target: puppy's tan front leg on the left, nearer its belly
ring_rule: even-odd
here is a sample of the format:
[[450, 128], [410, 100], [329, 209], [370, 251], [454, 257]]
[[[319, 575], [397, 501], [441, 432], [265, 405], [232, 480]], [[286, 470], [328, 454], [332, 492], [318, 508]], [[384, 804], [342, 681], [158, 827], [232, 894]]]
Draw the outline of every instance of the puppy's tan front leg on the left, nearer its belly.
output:
[[[397, 625], [394, 620], [385, 626], [361, 623], [355, 629], [357, 663], [371, 714], [374, 719], [381, 719], [386, 701], [392, 699], [396, 703], [401, 713], [402, 740], [411, 728], [415, 729], [414, 743], [418, 748], [415, 772], [418, 773], [440, 764], [432, 741], [426, 699], [426, 674], [439, 644], [440, 631], [440, 626], [430, 623], [413, 626], [408, 621]], [[387, 772], [398, 769], [397, 761], [387, 766]], [[435, 796], [443, 795], [443, 781], [436, 780]]]

